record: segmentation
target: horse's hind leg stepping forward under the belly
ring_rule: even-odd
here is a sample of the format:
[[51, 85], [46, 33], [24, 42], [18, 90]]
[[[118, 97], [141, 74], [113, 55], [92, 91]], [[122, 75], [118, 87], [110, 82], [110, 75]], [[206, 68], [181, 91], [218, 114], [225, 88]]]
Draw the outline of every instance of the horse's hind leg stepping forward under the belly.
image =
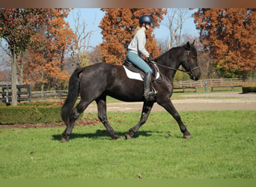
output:
[[96, 99], [96, 102], [97, 102], [97, 108], [98, 108], [98, 117], [100, 121], [106, 127], [111, 138], [114, 140], [119, 140], [120, 139], [119, 135], [115, 133], [114, 129], [112, 128], [112, 126], [109, 124], [109, 121], [108, 121], [108, 117], [106, 114], [106, 96], [101, 96], [100, 98]]

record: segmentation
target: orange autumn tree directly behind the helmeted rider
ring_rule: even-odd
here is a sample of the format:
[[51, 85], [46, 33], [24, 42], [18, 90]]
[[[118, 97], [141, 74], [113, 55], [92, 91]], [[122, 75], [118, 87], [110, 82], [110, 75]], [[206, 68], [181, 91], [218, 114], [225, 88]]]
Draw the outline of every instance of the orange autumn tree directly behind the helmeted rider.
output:
[[[103, 43], [100, 47], [102, 50], [103, 60], [111, 64], [122, 64], [126, 58], [127, 47], [132, 40], [133, 31], [138, 26], [138, 18], [143, 14], [150, 14], [156, 27], [163, 19], [165, 9], [145, 9], [145, 8], [103, 8], [106, 12], [100, 28], [103, 29]], [[150, 29], [147, 35], [147, 51], [153, 56], [159, 55], [159, 49], [155, 37]]]

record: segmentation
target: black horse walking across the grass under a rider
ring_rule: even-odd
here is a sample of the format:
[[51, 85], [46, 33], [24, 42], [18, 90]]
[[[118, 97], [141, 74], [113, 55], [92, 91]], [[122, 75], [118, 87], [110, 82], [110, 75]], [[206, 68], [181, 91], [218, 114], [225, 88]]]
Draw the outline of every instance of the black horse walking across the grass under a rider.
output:
[[[170, 97], [173, 92], [174, 74], [183, 66], [190, 78], [198, 80], [201, 70], [198, 67], [197, 51], [194, 42], [186, 43], [168, 50], [155, 59], [161, 74], [161, 82], [153, 82], [153, 88], [157, 91], [151, 100], [145, 100], [143, 96], [143, 82], [127, 78], [124, 67], [114, 64], [99, 63], [88, 67], [77, 68], [70, 77], [68, 96], [61, 108], [61, 117], [67, 128], [62, 134], [62, 141], [68, 141], [75, 121], [85, 108], [93, 102], [97, 102], [98, 117], [109, 132], [112, 139], [120, 139], [109, 124], [106, 114], [106, 96], [112, 96], [125, 102], [144, 101], [141, 119], [138, 124], [125, 135], [127, 139], [132, 138], [135, 132], [146, 122], [153, 104], [157, 102], [162, 105], [177, 121], [183, 132], [183, 138], [191, 138], [191, 134], [180, 119], [180, 114], [174, 108]], [[80, 93], [81, 100], [73, 108]]]

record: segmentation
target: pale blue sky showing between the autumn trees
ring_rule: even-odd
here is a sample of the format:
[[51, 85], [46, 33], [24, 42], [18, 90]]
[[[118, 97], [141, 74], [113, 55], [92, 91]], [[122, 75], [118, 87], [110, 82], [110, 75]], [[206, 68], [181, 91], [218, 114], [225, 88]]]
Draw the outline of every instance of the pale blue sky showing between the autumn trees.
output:
[[[75, 8], [70, 11], [69, 16], [66, 18], [66, 21], [70, 23], [70, 27], [74, 28], [74, 16], [76, 17], [77, 12], [80, 12], [80, 20], [84, 19], [85, 24], [88, 25], [88, 31], [91, 31], [91, 27], [93, 26], [94, 34], [91, 36], [91, 46], [97, 46], [100, 43], [102, 43], [102, 34], [101, 29], [99, 28], [100, 21], [103, 19], [104, 12], [100, 10], [100, 8]], [[189, 11], [188, 16], [191, 16], [192, 13], [195, 12], [195, 10]], [[154, 28], [154, 34], [156, 37], [156, 40], [165, 40], [166, 38], [170, 40], [169, 37], [169, 31], [168, 28], [165, 26], [164, 22], [166, 22], [166, 16], [165, 19], [162, 20], [159, 28]], [[195, 23], [194, 19], [190, 17], [189, 19], [186, 19], [186, 22], [184, 22], [183, 25], [183, 34], [189, 33], [192, 36], [198, 36], [198, 31], [195, 29]]]

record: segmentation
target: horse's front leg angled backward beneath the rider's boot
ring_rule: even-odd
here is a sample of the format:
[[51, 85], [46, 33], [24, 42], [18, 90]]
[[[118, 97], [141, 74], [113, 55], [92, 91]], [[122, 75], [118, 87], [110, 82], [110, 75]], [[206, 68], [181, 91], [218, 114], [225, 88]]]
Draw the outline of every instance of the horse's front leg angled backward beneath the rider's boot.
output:
[[145, 101], [143, 104], [142, 112], [141, 112], [141, 120], [138, 122], [137, 125], [133, 126], [129, 129], [129, 132], [125, 134], [125, 138], [130, 139], [138, 131], [138, 129], [147, 121], [147, 118], [150, 114], [151, 108], [153, 107], [154, 102]]

